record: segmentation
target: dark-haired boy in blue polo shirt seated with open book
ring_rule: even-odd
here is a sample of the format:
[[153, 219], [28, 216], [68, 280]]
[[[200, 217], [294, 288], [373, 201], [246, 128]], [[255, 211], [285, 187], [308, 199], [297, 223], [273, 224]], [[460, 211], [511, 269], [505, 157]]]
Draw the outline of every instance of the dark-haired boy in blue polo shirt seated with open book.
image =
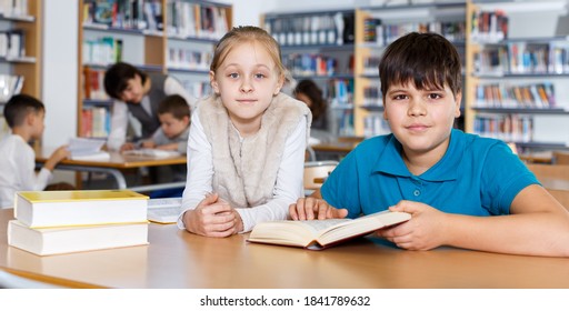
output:
[[449, 41], [403, 36], [385, 51], [379, 76], [392, 133], [361, 142], [320, 191], [289, 207], [292, 219], [389, 209], [411, 213], [408, 222], [377, 232], [402, 249], [569, 255], [569, 212], [510, 148], [452, 129], [461, 70]]

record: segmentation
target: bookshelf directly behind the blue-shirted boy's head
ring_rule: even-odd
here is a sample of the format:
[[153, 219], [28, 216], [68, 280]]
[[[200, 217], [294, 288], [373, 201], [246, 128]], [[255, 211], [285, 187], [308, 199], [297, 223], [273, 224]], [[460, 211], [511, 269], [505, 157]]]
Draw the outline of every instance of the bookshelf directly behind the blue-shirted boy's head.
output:
[[411, 31], [445, 36], [459, 53], [466, 43], [463, 1], [412, 6], [361, 7], [356, 10], [355, 130], [373, 137], [390, 132], [383, 120], [378, 66], [389, 43]]

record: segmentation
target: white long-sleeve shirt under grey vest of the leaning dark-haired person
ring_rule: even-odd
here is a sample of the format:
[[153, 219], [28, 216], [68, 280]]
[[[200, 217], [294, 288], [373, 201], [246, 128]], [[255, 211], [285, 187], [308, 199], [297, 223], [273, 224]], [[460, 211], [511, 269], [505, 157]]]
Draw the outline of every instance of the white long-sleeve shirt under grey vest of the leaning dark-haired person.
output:
[[[186, 89], [172, 77], [168, 77], [164, 80], [164, 93], [167, 96], [179, 94], [186, 99], [190, 109], [193, 111], [193, 104], [196, 100], [190, 97]], [[148, 96], [142, 98], [140, 102], [142, 108], [152, 116], [150, 109], [150, 99]], [[158, 118], [158, 116], [156, 117]], [[121, 100], [114, 100], [112, 103], [111, 114], [111, 132], [107, 140], [107, 147], [110, 150], [119, 150], [120, 147], [127, 141], [127, 130], [129, 126], [129, 108], [126, 102]]]

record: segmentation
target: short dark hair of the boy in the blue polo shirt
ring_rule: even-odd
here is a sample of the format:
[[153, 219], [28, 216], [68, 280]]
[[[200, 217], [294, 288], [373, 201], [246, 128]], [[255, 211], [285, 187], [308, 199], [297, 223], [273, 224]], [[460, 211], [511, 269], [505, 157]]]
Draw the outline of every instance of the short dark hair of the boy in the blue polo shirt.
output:
[[408, 33], [393, 41], [379, 63], [381, 93], [390, 84], [413, 82], [419, 90], [449, 86], [456, 96], [462, 89], [460, 56], [452, 43], [437, 33]]

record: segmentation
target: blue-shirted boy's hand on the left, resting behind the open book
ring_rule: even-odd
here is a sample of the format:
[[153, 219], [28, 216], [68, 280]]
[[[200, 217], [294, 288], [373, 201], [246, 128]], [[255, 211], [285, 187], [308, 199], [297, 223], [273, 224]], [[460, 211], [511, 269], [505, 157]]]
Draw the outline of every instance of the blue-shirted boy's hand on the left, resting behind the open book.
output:
[[297, 203], [289, 205], [289, 214], [292, 220], [315, 220], [329, 218], [346, 218], [347, 209], [336, 209], [325, 200], [317, 198], [300, 198]]

